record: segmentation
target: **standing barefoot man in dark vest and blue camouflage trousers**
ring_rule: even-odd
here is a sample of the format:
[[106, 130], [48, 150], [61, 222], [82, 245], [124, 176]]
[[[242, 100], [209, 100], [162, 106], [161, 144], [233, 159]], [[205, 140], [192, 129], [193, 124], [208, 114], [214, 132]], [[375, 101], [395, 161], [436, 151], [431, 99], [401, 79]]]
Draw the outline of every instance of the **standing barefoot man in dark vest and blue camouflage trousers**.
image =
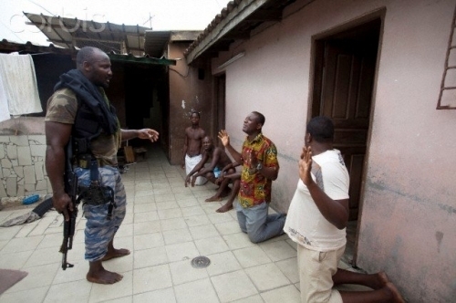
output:
[[[116, 112], [104, 91], [111, 78], [108, 55], [96, 47], [82, 47], [77, 55], [77, 69], [60, 76], [54, 94], [48, 99], [45, 119], [46, 168], [53, 204], [66, 221], [77, 207], [65, 192], [63, 178], [66, 146], [71, 139], [75, 156], [71, 160], [87, 218], [87, 279], [99, 284], [113, 284], [122, 279], [119, 273], [106, 270], [103, 261], [130, 254], [128, 249], [114, 248], [113, 242], [127, 204], [117, 168], [120, 142], [133, 138], [153, 142], [159, 138], [159, 133], [150, 129], [120, 129]], [[106, 195], [110, 197], [103, 199]]]

